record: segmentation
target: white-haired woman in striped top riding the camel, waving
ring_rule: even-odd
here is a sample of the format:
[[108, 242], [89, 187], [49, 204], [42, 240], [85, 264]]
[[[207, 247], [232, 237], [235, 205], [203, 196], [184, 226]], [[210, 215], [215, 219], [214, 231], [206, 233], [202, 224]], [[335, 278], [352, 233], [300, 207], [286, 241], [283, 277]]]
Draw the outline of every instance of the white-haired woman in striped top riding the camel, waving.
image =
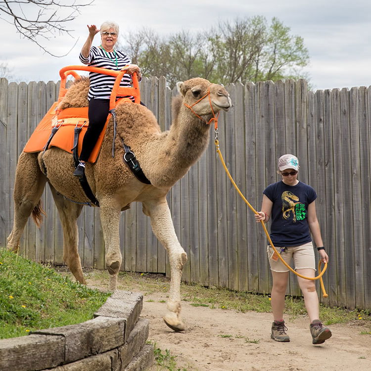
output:
[[[114, 48], [119, 35], [119, 26], [115, 22], [106, 21], [100, 26], [100, 30], [95, 25], [88, 25], [89, 36], [80, 52], [80, 60], [84, 64], [93, 67], [106, 68], [120, 71], [125, 67], [127, 74], [124, 75], [120, 86], [130, 87], [131, 76], [136, 72], [138, 80], [141, 80], [141, 71], [136, 64], [131, 64], [130, 59], [120, 50]], [[94, 36], [100, 31], [100, 46], [92, 46]], [[109, 111], [109, 98], [115, 83], [113, 76], [89, 73], [90, 89], [89, 100], [89, 126], [83, 140], [80, 153], [80, 163], [76, 167], [73, 175], [78, 178], [84, 177], [85, 163], [88, 161], [94, 145], [103, 130]], [[118, 97], [119, 98], [119, 97]], [[133, 97], [130, 97], [134, 100]]]

